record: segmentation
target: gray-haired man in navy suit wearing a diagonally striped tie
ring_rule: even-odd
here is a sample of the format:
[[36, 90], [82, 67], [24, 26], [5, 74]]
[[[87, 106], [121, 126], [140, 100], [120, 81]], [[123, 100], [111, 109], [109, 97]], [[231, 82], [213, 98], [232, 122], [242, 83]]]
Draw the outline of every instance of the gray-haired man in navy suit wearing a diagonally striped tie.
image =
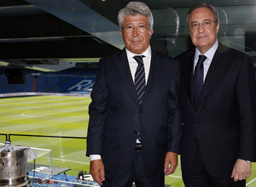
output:
[[[128, 3], [118, 18], [125, 48], [100, 60], [91, 93], [90, 173], [102, 186], [162, 187], [180, 151], [179, 65], [150, 47], [153, 16], [146, 4]], [[138, 90], [137, 77], [144, 77]]]

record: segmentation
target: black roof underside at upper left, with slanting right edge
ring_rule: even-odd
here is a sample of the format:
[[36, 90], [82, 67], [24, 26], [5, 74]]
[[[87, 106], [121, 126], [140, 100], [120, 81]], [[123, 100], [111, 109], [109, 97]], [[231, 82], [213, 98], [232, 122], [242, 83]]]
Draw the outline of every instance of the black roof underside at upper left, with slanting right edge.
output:
[[10, 66], [83, 61], [119, 50], [23, 0], [0, 1], [0, 35], [0, 59]]

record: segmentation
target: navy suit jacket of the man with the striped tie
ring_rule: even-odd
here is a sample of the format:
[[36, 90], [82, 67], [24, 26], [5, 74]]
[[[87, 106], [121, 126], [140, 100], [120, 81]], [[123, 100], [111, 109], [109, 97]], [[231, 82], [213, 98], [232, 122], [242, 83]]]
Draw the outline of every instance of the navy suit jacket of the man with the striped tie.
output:
[[148, 176], [163, 173], [166, 151], [180, 151], [178, 69], [176, 59], [152, 48], [140, 106], [125, 49], [100, 60], [91, 93], [86, 154], [102, 155], [107, 177], [125, 173], [131, 166], [137, 139], [134, 132], [139, 124], [143, 167]]

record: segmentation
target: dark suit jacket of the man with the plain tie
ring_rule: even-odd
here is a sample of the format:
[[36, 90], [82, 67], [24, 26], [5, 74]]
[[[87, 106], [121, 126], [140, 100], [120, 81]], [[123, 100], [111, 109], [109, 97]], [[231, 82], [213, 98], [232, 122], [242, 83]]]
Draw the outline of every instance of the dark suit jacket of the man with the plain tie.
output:
[[247, 54], [219, 43], [195, 109], [194, 55], [195, 48], [177, 56], [183, 112], [182, 169], [188, 173], [192, 168], [198, 142], [207, 171], [214, 177], [231, 176], [237, 158], [255, 161], [253, 62]]

